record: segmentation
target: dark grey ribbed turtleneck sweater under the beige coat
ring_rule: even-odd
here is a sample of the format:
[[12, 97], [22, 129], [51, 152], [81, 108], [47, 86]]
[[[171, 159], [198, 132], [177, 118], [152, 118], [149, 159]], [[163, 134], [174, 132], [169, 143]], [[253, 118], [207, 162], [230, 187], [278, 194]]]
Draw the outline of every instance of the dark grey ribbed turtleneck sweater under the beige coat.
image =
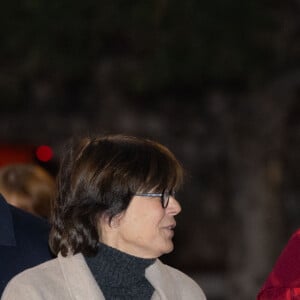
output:
[[145, 270], [155, 259], [144, 259], [99, 245], [95, 257], [85, 257], [107, 300], [147, 300], [154, 292], [145, 278]]

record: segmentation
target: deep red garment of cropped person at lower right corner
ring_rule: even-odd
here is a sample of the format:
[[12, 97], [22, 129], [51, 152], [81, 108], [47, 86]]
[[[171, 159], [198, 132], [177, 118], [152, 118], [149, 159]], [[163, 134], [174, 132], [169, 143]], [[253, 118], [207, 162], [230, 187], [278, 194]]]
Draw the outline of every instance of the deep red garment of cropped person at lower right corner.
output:
[[257, 300], [300, 300], [300, 229], [283, 249]]

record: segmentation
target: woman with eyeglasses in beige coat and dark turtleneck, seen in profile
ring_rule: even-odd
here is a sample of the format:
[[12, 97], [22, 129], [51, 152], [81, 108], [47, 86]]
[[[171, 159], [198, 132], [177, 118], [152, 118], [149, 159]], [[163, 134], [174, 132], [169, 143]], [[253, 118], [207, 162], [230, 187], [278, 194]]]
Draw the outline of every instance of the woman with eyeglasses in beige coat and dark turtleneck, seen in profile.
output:
[[70, 145], [53, 205], [58, 257], [14, 277], [1, 299], [206, 299], [159, 260], [173, 250], [182, 178], [174, 155], [154, 141], [112, 135]]

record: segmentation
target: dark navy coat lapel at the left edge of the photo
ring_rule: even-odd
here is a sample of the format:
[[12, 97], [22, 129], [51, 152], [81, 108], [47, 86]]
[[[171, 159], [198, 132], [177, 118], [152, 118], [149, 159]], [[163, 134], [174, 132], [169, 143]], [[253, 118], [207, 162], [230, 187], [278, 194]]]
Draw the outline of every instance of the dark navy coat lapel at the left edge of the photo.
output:
[[0, 245], [16, 246], [14, 225], [9, 204], [0, 195]]

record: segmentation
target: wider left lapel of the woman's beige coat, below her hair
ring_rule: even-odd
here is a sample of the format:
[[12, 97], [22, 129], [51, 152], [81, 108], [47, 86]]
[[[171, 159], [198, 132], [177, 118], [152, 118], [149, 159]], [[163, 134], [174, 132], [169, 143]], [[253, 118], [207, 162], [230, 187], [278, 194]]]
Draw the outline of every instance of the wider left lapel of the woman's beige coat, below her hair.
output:
[[82, 254], [58, 255], [71, 299], [105, 300]]

